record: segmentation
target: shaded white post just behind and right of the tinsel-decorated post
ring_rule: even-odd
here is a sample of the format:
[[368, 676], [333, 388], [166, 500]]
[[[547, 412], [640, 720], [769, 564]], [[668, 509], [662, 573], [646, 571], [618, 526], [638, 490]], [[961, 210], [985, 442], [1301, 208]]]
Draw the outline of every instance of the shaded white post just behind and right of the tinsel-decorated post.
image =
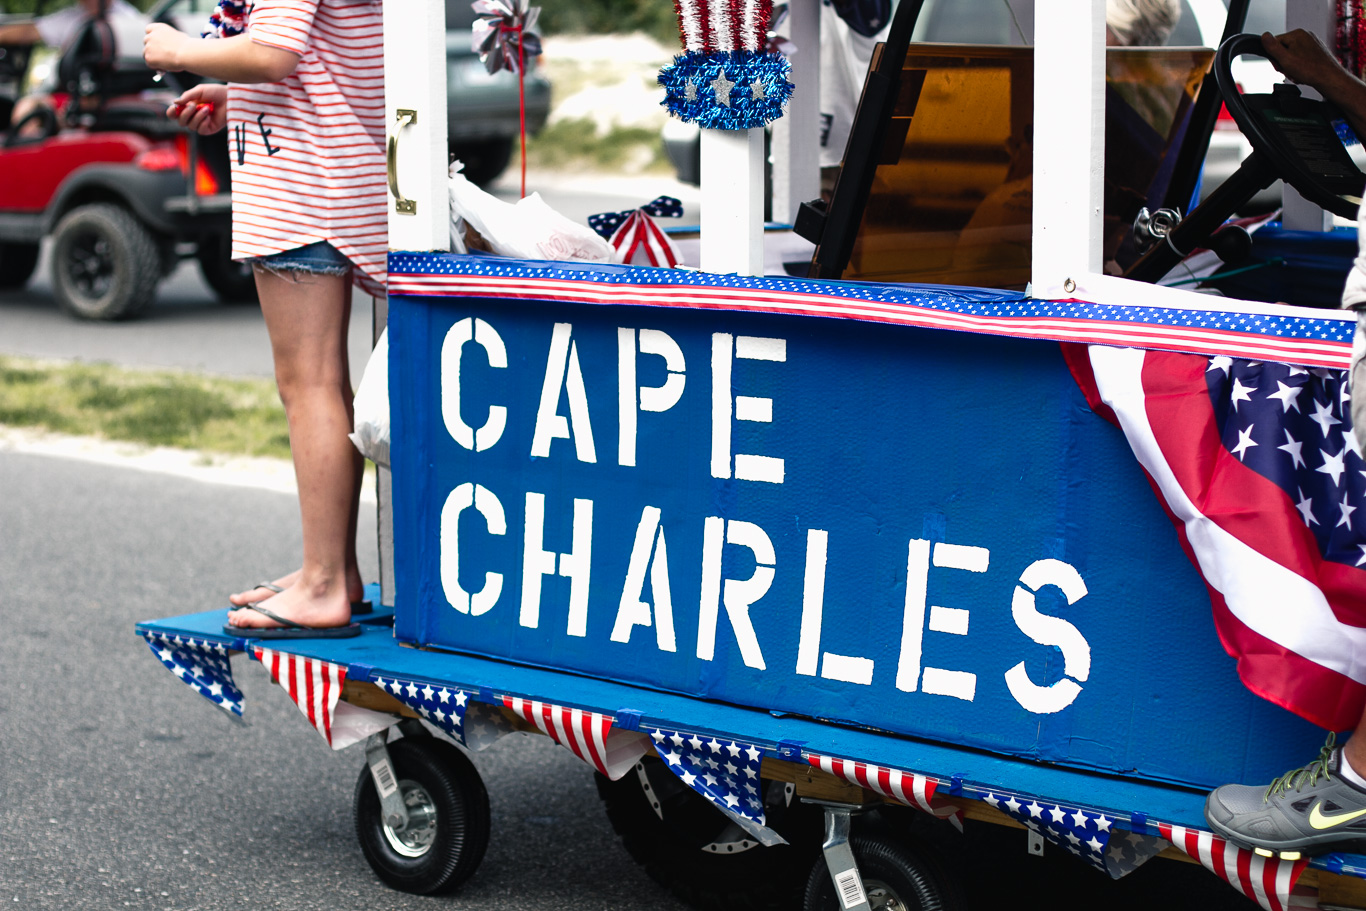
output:
[[792, 224], [798, 208], [821, 195], [821, 1], [790, 0], [783, 27], [796, 45], [796, 89], [773, 122], [773, 220]]

